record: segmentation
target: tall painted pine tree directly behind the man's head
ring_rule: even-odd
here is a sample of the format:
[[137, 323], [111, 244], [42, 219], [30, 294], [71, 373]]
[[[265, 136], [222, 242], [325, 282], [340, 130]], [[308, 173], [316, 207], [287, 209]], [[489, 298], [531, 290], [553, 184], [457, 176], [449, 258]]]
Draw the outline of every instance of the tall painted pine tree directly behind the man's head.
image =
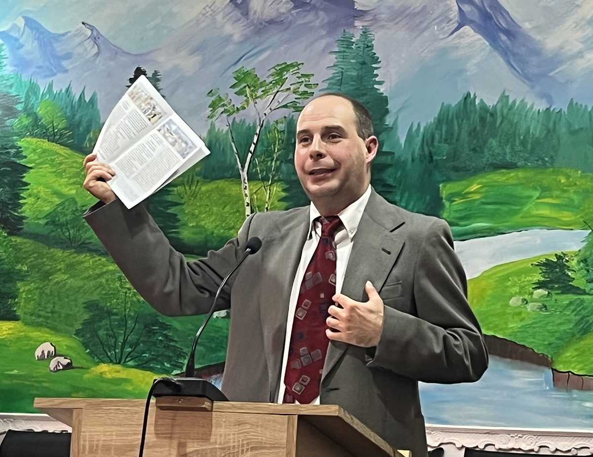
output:
[[371, 113], [375, 136], [379, 138], [379, 150], [373, 161], [371, 184], [375, 190], [390, 202], [396, 202], [396, 151], [388, 151], [383, 147], [383, 134], [388, 131], [386, 124], [389, 113], [387, 96], [379, 87], [377, 73], [381, 63], [374, 50], [374, 35], [368, 27], [364, 27], [358, 39], [349, 31], [344, 31], [337, 39], [337, 50], [331, 54], [336, 56], [329, 69], [333, 74], [327, 80], [323, 91], [339, 92], [360, 101]]

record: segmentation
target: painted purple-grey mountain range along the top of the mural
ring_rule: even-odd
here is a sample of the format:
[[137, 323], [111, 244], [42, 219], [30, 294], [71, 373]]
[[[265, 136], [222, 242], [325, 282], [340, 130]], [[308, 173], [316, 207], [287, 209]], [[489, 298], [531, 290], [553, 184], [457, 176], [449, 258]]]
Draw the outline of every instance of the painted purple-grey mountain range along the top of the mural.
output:
[[[576, 91], [578, 101], [591, 103], [585, 78], [593, 63], [568, 65], [575, 59], [570, 46], [551, 49], [533, 21], [521, 22], [527, 10], [514, 17], [512, 5], [507, 9], [500, 1], [213, 0], [144, 54], [114, 46], [88, 23], [53, 33], [29, 17], [0, 32], [0, 40], [10, 68], [25, 77], [42, 84], [53, 80], [56, 87], [72, 81], [77, 91], [97, 91], [104, 117], [136, 66], [158, 69], [167, 100], [198, 131], [206, 125], [205, 94], [227, 88], [235, 69], [244, 65], [263, 72], [279, 62], [300, 61], [321, 82], [329, 75], [337, 37], [362, 26], [375, 33], [383, 90], [404, 128], [431, 119], [441, 103], [455, 102], [468, 90], [489, 102], [506, 91], [537, 106], [566, 106]], [[556, 5], [550, 23], [566, 27], [575, 12], [562, 9], [562, 0], [550, 2]], [[565, 21], [557, 20], [562, 11]]]

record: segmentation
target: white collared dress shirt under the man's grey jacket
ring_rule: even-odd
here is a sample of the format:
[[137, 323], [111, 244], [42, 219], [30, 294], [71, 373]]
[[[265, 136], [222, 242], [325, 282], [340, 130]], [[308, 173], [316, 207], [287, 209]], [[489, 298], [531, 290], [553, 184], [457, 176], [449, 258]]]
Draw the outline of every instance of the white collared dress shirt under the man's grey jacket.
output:
[[[344, 282], [344, 275], [346, 274], [346, 265], [350, 258], [350, 252], [352, 251], [352, 240], [358, 229], [358, 223], [361, 221], [362, 212], [366, 207], [366, 203], [371, 196], [371, 186], [369, 185], [365, 193], [362, 194], [361, 198], [353, 202], [338, 216], [342, 220], [343, 227], [334, 234], [334, 241], [336, 242], [336, 293], [339, 294], [342, 290], [342, 284]], [[299, 262], [297, 274], [295, 275], [294, 282], [292, 283], [291, 300], [288, 304], [288, 319], [286, 320], [286, 338], [284, 341], [284, 353], [282, 355], [282, 374], [280, 375], [280, 390], [278, 392], [278, 403], [282, 403], [284, 399], [284, 374], [286, 372], [286, 361], [288, 360], [288, 346], [291, 341], [292, 333], [292, 321], [294, 320], [295, 310], [297, 309], [297, 301], [299, 291], [301, 290], [302, 277], [305, 275], [305, 270], [321, 237], [321, 222], [315, 221], [315, 218], [319, 217], [319, 211], [315, 208], [313, 202], [309, 207], [309, 234], [305, 245], [302, 248], [301, 261]], [[318, 405], [319, 397], [315, 398], [311, 403]]]

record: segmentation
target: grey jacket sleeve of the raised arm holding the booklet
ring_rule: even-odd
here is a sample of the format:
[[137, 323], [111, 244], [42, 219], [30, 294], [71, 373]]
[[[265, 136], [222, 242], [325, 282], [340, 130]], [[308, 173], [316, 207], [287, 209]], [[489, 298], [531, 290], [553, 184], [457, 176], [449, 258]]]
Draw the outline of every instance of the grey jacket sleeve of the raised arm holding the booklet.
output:
[[[249, 217], [236, 238], [208, 256], [186, 262], [169, 244], [142, 205], [131, 210], [119, 200], [95, 205], [84, 215], [98, 239], [133, 287], [166, 316], [205, 314], [225, 275], [245, 252]], [[232, 278], [217, 309], [230, 307]]]

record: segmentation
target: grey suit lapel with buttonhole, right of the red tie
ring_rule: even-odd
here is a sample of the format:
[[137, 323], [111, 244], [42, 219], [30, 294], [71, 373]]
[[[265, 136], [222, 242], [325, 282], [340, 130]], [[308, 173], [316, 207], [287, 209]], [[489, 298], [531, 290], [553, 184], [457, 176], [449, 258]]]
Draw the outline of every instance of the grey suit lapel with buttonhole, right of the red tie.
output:
[[[353, 239], [341, 291], [357, 302], [368, 300], [366, 281], [371, 281], [377, 290], [381, 289], [403, 247], [403, 239], [392, 233], [403, 220], [398, 220], [393, 210], [393, 205], [372, 191]], [[322, 382], [347, 347], [344, 342], [330, 341]]]

